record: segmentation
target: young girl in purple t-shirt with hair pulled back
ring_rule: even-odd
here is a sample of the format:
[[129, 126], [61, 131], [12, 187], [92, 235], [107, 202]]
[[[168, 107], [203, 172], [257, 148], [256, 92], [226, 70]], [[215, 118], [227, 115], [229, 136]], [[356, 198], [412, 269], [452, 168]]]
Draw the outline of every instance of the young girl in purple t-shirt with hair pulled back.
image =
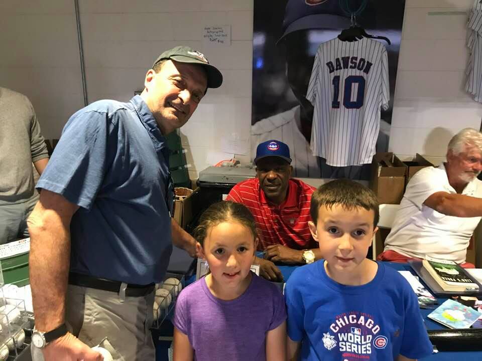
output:
[[250, 271], [258, 237], [242, 204], [219, 202], [195, 230], [210, 273], [176, 303], [174, 361], [286, 359], [286, 309], [281, 292]]

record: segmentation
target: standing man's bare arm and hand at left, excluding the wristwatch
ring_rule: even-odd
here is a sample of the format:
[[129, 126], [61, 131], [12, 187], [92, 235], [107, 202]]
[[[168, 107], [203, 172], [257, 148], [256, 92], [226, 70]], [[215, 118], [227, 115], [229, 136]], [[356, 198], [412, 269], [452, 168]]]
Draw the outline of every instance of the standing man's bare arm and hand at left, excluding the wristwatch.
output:
[[[65, 297], [70, 266], [70, 220], [79, 207], [64, 197], [43, 190], [28, 219], [30, 233], [29, 272], [35, 327], [51, 331], [65, 322]], [[44, 349], [45, 361], [101, 360], [71, 333]]]

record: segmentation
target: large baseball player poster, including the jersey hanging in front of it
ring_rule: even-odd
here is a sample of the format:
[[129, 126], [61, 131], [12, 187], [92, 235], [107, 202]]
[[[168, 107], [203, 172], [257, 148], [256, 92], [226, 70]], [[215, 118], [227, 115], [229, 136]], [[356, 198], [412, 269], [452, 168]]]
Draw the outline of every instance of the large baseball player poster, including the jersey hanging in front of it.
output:
[[[293, 176], [368, 179], [369, 166], [360, 163], [388, 149], [404, 9], [405, 0], [255, 0], [252, 156], [259, 143], [277, 139], [290, 147]], [[364, 38], [364, 45], [326, 46], [352, 23], [391, 44]], [[339, 49], [346, 54], [335, 56]], [[316, 92], [309, 91], [314, 81]], [[339, 139], [331, 142], [333, 134]]]

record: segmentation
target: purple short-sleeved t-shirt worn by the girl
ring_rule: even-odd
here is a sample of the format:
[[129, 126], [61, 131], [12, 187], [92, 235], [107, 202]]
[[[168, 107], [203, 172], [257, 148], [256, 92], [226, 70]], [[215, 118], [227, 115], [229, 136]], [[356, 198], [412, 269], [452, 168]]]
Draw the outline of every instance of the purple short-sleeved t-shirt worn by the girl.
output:
[[279, 289], [253, 274], [231, 301], [214, 297], [202, 277], [179, 294], [172, 322], [188, 336], [196, 361], [265, 361], [266, 332], [285, 319]]

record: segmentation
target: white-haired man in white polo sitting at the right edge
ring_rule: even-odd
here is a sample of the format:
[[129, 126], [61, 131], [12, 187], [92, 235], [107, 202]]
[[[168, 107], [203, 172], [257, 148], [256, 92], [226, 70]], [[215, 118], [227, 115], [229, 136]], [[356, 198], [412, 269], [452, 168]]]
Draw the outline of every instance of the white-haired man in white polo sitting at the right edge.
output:
[[405, 262], [430, 256], [465, 262], [482, 217], [482, 133], [462, 129], [448, 143], [447, 161], [410, 179], [385, 250], [378, 259]]

